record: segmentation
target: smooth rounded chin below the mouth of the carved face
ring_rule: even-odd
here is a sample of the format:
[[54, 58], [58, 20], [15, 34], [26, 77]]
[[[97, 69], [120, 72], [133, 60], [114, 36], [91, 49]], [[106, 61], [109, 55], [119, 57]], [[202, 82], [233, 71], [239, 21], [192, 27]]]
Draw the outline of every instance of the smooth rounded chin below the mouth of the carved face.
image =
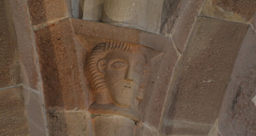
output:
[[135, 86], [114, 86], [111, 91], [111, 97], [114, 104], [122, 107], [131, 106], [136, 90], [137, 87]]

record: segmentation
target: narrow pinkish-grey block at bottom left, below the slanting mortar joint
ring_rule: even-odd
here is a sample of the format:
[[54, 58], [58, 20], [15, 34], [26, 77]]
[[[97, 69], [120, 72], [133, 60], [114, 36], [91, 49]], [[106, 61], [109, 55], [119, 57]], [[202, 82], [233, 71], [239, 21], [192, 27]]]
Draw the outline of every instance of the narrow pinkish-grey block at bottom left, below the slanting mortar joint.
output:
[[23, 88], [27, 118], [29, 124], [29, 133], [31, 136], [45, 136], [46, 123], [43, 111], [43, 103], [40, 92]]

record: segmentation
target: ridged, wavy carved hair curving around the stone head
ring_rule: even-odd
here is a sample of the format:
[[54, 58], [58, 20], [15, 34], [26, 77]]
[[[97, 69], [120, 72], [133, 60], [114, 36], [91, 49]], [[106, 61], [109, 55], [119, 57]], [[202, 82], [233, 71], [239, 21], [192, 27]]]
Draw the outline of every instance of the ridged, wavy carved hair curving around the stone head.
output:
[[[93, 85], [94, 91], [104, 91], [107, 89], [106, 83], [104, 81], [103, 74], [98, 70], [97, 64], [98, 61], [105, 57], [106, 53], [109, 51], [120, 50], [120, 51], [128, 51], [132, 53], [141, 53], [143, 51], [140, 50], [141, 46], [123, 43], [120, 41], [106, 41], [104, 43], [100, 43], [96, 45], [90, 53], [88, 60], [88, 69], [90, 75], [90, 81]], [[150, 70], [148, 66], [148, 61], [146, 61], [145, 72]], [[141, 89], [141, 87], [140, 87]]]

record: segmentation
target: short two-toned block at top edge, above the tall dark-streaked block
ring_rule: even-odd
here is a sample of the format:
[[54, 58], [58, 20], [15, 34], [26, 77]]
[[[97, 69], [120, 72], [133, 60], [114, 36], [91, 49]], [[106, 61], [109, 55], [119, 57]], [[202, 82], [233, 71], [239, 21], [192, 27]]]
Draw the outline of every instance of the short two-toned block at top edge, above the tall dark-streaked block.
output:
[[32, 25], [69, 16], [66, 0], [27, 0]]

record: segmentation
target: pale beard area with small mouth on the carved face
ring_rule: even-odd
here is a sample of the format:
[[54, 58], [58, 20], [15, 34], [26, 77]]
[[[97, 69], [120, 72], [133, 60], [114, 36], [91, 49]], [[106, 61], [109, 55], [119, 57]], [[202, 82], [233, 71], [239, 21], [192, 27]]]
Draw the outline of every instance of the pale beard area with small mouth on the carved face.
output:
[[110, 87], [113, 103], [121, 107], [131, 106], [139, 86], [132, 80], [118, 80]]

